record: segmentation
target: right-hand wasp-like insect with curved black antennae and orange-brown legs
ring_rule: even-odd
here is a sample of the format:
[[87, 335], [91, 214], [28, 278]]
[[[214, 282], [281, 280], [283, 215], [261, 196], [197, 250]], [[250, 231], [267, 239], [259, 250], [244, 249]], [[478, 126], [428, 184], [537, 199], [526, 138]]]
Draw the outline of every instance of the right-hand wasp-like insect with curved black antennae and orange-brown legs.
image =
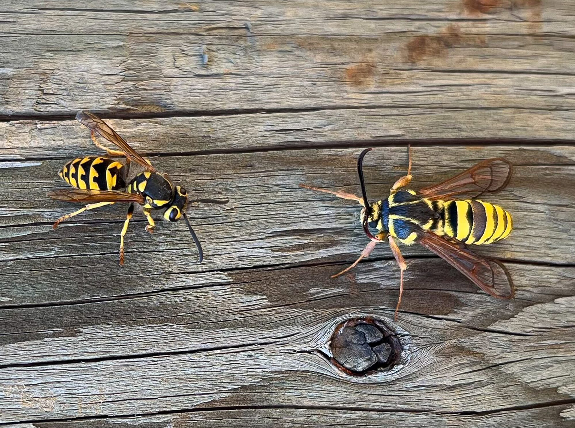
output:
[[[361, 224], [369, 244], [359, 258], [335, 278], [351, 268], [373, 251], [375, 244], [389, 240], [393, 256], [400, 267], [400, 293], [395, 318], [403, 293], [403, 272], [407, 264], [397, 246], [396, 239], [407, 245], [419, 243], [454, 266], [474, 284], [493, 297], [511, 299], [515, 292], [507, 269], [499, 261], [480, 257], [464, 244], [490, 244], [507, 238], [513, 228], [511, 214], [499, 205], [477, 200], [484, 193], [494, 193], [507, 186], [512, 166], [505, 159], [484, 160], [455, 177], [414, 192], [401, 190], [411, 182], [411, 149], [407, 175], [399, 178], [385, 200], [369, 203], [363, 179], [363, 158], [372, 150], [367, 148], [358, 158], [359, 184], [362, 197], [346, 192], [301, 185], [303, 188], [334, 194], [358, 201], [362, 206]], [[466, 194], [470, 199], [459, 199]], [[370, 229], [377, 230], [375, 236]]]

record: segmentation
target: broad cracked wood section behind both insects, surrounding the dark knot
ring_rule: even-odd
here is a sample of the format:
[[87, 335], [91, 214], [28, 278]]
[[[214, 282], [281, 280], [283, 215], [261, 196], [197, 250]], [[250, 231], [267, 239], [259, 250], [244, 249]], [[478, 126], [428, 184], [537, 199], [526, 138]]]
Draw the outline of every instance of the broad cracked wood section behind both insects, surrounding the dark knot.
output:
[[[62, 160], [1, 169], [4, 200], [26, 194], [10, 202], [20, 215], [4, 217], [0, 228], [0, 391], [8, 403], [1, 420], [204, 406], [332, 408], [335, 401], [343, 410], [361, 403], [366, 411], [384, 412], [400, 406], [490, 414], [551, 406], [553, 420], [563, 421], [557, 408], [570, 412], [575, 396], [565, 370], [575, 357], [573, 149], [414, 150], [414, 188], [490, 156], [515, 164], [508, 189], [489, 200], [513, 213], [516, 229], [482, 253], [514, 261], [507, 267], [517, 297], [492, 299], [412, 247], [405, 249], [410, 269], [397, 324], [391, 319], [398, 270], [385, 247], [355, 272], [329, 279], [366, 242], [356, 224], [358, 207], [298, 187], [306, 182], [357, 192], [358, 151], [154, 158], [178, 182], [190, 182], [194, 197], [225, 203], [202, 202], [193, 210], [206, 249], [202, 265], [194, 264], [191, 242], [183, 242], [177, 225], [160, 223], [150, 236], [139, 220], [124, 269], [116, 265], [117, 209], [50, 230], [50, 218], [73, 209], [44, 196], [58, 184], [53, 177]], [[405, 147], [371, 152], [369, 192], [384, 194], [406, 160]], [[545, 239], [534, 251], [531, 240], [542, 224]], [[325, 341], [336, 323], [353, 315], [378, 316], [401, 331], [404, 362], [361, 380], [329, 364]], [[504, 393], [492, 394], [492, 379]]]

